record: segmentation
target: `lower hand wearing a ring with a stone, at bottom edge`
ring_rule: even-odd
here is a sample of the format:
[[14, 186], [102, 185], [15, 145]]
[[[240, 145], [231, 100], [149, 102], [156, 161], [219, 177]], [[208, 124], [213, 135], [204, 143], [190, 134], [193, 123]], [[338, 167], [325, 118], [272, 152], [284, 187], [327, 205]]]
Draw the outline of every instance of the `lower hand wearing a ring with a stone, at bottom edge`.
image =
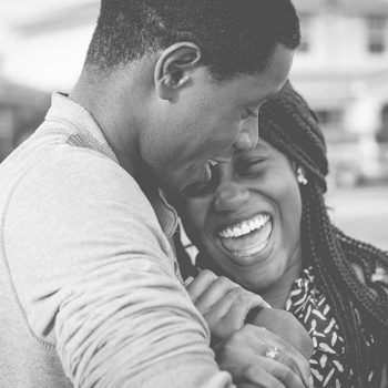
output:
[[[269, 357], [268, 349], [273, 357]], [[216, 360], [238, 388], [314, 388], [308, 361], [279, 336], [245, 325], [216, 348]]]

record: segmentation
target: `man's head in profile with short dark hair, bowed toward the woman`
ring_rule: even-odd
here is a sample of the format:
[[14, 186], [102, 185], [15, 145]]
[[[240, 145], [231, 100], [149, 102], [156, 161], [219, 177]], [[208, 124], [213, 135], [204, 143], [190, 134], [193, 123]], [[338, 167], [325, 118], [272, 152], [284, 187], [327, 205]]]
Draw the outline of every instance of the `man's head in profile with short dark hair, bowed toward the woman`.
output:
[[290, 0], [102, 0], [85, 70], [121, 80], [116, 131], [135, 130], [142, 166], [182, 191], [232, 144], [255, 145], [298, 43]]

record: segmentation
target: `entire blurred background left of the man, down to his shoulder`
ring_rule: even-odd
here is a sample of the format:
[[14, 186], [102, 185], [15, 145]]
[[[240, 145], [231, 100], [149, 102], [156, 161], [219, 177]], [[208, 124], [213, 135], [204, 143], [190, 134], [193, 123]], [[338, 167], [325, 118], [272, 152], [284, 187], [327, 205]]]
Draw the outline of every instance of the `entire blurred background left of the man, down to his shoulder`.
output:
[[99, 3], [0, 3], [0, 162], [43, 121], [51, 92], [76, 81]]

